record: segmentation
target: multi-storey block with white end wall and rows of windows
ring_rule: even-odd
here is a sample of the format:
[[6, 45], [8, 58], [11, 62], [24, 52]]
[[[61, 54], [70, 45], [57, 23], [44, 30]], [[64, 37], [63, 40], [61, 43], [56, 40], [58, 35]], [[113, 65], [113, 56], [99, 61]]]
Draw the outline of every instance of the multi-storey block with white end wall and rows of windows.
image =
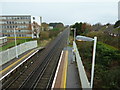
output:
[[0, 37], [39, 38], [40, 17], [31, 15], [0, 16]]

